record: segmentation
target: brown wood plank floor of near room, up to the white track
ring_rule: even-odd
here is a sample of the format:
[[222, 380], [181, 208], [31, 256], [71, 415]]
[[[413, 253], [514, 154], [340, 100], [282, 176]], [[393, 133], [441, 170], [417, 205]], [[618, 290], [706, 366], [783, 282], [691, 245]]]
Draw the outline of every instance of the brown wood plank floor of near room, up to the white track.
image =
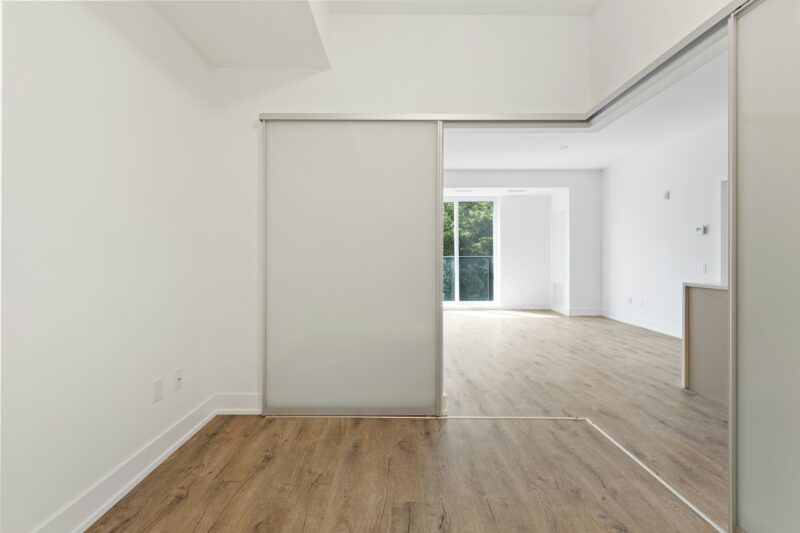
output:
[[583, 421], [214, 418], [91, 532], [711, 532]]

